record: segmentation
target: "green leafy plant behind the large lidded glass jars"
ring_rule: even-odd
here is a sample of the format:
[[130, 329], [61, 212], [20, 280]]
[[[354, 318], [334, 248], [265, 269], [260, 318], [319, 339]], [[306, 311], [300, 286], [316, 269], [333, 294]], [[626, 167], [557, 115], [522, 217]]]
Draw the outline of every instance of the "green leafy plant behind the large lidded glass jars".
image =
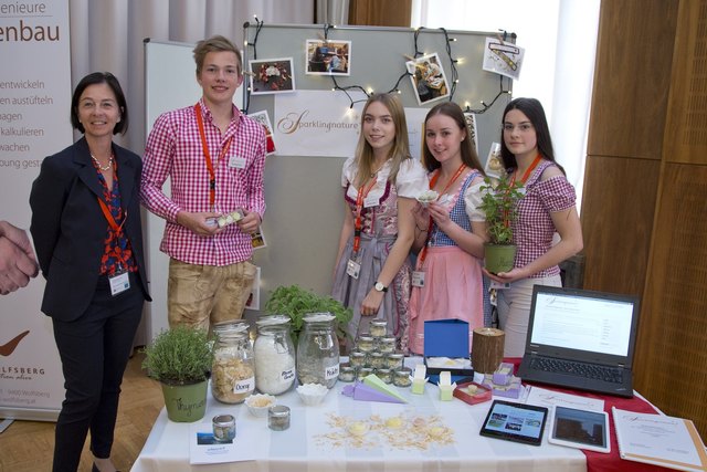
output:
[[281, 285], [271, 293], [270, 300], [265, 304], [265, 312], [268, 315], [287, 315], [292, 321], [292, 334], [295, 346], [297, 337], [303, 327], [303, 318], [307, 313], [331, 313], [336, 321], [336, 334], [339, 339], [348, 336], [346, 325], [354, 317], [351, 308], [330, 296], [317, 295], [310, 290], [305, 290], [299, 285]]

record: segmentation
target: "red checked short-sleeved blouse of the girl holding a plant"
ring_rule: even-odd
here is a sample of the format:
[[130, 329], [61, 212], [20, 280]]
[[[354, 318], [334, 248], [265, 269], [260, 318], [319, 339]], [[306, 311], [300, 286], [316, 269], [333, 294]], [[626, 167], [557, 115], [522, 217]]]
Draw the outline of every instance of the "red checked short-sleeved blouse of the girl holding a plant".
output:
[[[518, 247], [514, 266], [523, 268], [552, 247], [556, 232], [550, 213], [563, 211], [576, 204], [574, 187], [562, 176], [541, 181], [542, 171], [555, 164], [544, 160], [526, 181], [526, 195], [518, 202], [518, 219], [513, 223], [513, 239]], [[531, 279], [558, 275], [555, 265], [530, 275]]]

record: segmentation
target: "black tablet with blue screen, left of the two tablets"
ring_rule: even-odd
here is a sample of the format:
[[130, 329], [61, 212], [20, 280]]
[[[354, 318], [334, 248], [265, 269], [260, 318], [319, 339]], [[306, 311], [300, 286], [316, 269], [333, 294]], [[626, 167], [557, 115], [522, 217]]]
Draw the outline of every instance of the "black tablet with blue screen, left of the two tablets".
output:
[[481, 434], [489, 438], [540, 445], [548, 409], [535, 405], [494, 400]]

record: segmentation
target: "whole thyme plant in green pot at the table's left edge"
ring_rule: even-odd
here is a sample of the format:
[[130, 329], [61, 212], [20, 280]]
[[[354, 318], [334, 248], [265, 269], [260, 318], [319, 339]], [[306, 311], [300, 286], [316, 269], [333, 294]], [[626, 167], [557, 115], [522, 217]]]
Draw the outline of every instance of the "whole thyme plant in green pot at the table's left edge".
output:
[[177, 326], [157, 335], [144, 353], [143, 368], [160, 381], [168, 418], [179, 422], [203, 418], [213, 363], [209, 333]]

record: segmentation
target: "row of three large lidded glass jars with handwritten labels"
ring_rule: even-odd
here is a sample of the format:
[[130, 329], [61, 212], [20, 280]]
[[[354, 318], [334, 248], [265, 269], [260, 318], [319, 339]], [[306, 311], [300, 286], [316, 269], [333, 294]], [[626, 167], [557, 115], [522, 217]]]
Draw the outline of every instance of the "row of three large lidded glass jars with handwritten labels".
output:
[[252, 345], [247, 322], [214, 325], [213, 397], [240, 403], [256, 388], [263, 394], [283, 394], [295, 379], [334, 387], [339, 375], [339, 344], [333, 322], [329, 313], [305, 316], [296, 354], [287, 316], [261, 317]]

